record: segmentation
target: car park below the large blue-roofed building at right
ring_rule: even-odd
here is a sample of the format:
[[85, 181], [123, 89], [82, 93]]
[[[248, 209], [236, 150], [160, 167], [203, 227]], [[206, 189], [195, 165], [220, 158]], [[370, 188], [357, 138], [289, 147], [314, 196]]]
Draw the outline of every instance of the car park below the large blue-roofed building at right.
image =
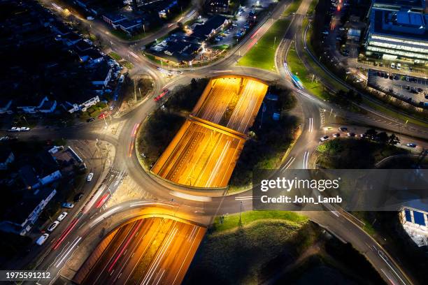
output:
[[369, 85], [384, 92], [392, 92], [403, 101], [428, 107], [428, 80], [399, 73], [369, 70]]

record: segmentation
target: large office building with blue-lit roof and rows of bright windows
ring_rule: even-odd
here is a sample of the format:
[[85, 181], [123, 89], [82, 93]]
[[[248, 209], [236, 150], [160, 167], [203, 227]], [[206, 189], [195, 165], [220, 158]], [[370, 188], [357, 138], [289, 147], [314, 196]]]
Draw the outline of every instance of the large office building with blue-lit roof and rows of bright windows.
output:
[[366, 33], [366, 55], [428, 64], [425, 1], [373, 1]]

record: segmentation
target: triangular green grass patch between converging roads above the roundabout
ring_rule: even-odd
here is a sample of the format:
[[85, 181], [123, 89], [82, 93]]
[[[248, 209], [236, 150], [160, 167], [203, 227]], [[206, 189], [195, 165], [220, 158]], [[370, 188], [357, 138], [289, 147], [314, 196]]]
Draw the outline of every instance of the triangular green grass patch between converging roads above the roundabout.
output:
[[290, 20], [276, 21], [251, 50], [239, 59], [238, 65], [275, 71], [275, 51], [289, 24]]

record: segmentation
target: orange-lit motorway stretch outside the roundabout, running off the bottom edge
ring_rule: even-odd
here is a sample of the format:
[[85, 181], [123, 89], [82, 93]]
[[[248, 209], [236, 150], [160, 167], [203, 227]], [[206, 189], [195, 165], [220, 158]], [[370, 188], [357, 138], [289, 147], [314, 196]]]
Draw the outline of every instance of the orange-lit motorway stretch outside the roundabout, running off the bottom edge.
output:
[[116, 228], [92, 251], [78, 284], [180, 284], [206, 228], [165, 217]]

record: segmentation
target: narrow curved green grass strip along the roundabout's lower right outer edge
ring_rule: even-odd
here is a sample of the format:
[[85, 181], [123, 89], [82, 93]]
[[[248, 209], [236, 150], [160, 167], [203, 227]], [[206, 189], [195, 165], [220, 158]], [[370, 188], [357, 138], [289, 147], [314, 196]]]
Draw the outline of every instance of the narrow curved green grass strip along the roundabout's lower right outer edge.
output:
[[[241, 223], [242, 226], [250, 224], [252, 221], [257, 221], [260, 219], [281, 219], [290, 221], [292, 223], [301, 224], [308, 221], [307, 217], [297, 214], [296, 212], [287, 212], [287, 211], [250, 211], [243, 212], [241, 214]], [[231, 228], [237, 228], [239, 226], [239, 214], [229, 214], [220, 223], [220, 217], [216, 217], [213, 229], [215, 232], [222, 232], [230, 230]]]

